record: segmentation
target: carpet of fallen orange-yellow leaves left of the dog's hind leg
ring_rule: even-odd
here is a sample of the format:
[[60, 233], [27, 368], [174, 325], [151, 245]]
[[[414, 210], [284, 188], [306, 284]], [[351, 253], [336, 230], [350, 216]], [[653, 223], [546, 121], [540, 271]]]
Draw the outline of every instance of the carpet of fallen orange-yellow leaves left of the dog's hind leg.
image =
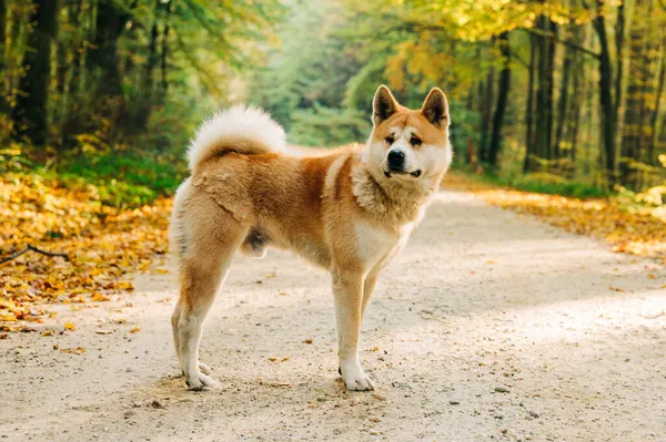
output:
[[164, 198], [120, 209], [102, 205], [93, 186], [0, 177], [0, 258], [27, 245], [70, 258], [28, 251], [0, 265], [0, 330], [19, 329], [17, 320], [41, 322], [48, 304], [109, 301], [132, 291], [123, 277], [164, 254], [170, 208]]

